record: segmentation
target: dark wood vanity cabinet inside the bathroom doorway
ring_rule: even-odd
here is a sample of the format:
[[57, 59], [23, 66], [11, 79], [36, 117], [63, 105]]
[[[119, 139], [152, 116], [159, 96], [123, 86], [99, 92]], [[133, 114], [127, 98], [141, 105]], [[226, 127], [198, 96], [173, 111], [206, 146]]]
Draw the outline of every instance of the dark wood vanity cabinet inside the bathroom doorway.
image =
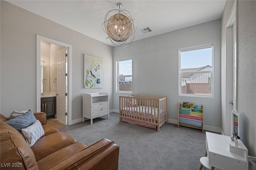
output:
[[47, 116], [55, 115], [56, 113], [56, 97], [41, 98], [41, 111]]

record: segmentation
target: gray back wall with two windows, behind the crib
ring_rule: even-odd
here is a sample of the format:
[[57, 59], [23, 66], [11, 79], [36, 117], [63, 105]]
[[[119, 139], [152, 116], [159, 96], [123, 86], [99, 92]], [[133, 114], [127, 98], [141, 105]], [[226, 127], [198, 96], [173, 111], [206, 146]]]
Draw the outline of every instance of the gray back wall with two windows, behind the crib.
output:
[[[204, 105], [204, 125], [216, 127], [218, 131], [221, 120], [220, 41], [221, 22], [214, 20], [135, 41], [125, 48], [114, 47], [113, 64], [117, 59], [132, 57], [132, 93], [167, 96], [169, 122], [177, 123], [179, 102], [194, 102]], [[178, 49], [212, 43], [214, 44], [214, 98], [178, 96]], [[116, 70], [113, 76], [115, 84]], [[117, 93], [115, 88], [113, 107], [117, 110], [120, 95], [128, 94]]]

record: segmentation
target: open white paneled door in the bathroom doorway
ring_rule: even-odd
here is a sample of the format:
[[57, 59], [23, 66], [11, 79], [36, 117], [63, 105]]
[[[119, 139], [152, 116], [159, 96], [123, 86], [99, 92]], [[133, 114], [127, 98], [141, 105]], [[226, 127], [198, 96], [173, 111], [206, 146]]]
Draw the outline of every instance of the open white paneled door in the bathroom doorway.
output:
[[66, 48], [57, 52], [57, 119], [66, 124]]

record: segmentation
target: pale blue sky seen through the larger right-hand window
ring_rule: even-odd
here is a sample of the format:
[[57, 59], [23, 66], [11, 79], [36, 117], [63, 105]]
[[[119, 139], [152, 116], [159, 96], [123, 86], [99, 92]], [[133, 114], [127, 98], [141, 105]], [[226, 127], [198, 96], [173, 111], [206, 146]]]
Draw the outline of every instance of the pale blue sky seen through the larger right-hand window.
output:
[[212, 47], [180, 52], [180, 68], [212, 66]]

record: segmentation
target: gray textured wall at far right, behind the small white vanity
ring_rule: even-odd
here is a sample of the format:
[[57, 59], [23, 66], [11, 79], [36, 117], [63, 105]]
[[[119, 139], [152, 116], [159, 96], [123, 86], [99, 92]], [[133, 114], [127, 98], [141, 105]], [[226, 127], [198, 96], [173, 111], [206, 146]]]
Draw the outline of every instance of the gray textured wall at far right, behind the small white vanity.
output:
[[256, 1], [238, 1], [238, 113], [241, 140], [256, 157]]

